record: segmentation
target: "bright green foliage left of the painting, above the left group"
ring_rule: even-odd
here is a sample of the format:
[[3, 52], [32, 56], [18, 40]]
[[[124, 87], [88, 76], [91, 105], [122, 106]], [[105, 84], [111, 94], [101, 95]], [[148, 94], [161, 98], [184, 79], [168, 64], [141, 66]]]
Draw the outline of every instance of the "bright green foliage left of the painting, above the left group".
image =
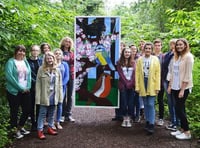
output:
[[[23, 44], [27, 49], [33, 44], [48, 42], [59, 47], [64, 36], [73, 37], [75, 12], [59, 5], [33, 5], [24, 1], [0, 3], [0, 93], [5, 94], [4, 65], [13, 56], [14, 46]], [[41, 2], [39, 3], [41, 4]], [[43, 3], [44, 4], [44, 3]]]

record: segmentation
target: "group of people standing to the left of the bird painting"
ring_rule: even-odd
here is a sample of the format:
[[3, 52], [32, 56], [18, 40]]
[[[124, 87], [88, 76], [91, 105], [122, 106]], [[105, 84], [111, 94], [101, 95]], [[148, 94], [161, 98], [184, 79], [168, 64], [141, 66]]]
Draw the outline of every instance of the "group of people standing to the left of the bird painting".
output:
[[57, 135], [56, 129], [63, 128], [60, 122], [75, 121], [71, 112], [74, 81], [72, 48], [73, 40], [69, 37], [64, 37], [60, 48], [53, 52], [48, 43], [31, 46], [28, 58], [23, 45], [15, 47], [14, 56], [6, 63], [5, 75], [10, 125], [15, 129], [17, 139], [30, 133], [24, 128], [28, 117], [31, 118], [31, 130], [37, 130], [39, 139], [46, 138], [44, 125], [47, 125], [48, 134]]

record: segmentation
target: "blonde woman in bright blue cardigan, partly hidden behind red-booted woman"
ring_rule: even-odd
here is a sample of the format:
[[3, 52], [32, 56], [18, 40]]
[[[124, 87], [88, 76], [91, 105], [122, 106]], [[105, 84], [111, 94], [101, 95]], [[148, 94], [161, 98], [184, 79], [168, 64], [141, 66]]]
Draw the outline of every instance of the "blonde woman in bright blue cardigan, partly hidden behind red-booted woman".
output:
[[[62, 86], [63, 86], [63, 96], [66, 96], [66, 88], [67, 88], [67, 83], [69, 81], [69, 66], [67, 62], [64, 62], [63, 59], [63, 52], [61, 49], [55, 49], [54, 50], [54, 55], [57, 60], [58, 68], [60, 69], [60, 72], [62, 74]], [[63, 98], [64, 100], [64, 98]], [[62, 129], [62, 126], [60, 125], [60, 120], [62, 117], [62, 103], [58, 103], [57, 106], [57, 114], [56, 114], [56, 127], [58, 129]]]

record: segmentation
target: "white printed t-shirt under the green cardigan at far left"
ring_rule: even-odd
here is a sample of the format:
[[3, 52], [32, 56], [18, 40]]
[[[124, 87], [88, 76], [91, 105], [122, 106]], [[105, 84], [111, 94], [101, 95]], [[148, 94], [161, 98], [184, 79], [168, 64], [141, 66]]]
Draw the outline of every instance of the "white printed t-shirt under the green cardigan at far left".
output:
[[17, 67], [17, 72], [18, 72], [18, 82], [19, 84], [26, 88], [27, 87], [27, 78], [28, 78], [28, 69], [26, 67], [26, 63], [23, 60], [14, 60], [15, 65]]

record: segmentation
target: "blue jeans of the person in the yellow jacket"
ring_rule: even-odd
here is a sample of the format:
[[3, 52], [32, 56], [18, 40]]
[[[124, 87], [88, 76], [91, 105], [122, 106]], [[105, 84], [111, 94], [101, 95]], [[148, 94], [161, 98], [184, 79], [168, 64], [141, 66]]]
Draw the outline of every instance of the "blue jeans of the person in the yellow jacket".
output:
[[156, 96], [142, 97], [144, 101], [144, 115], [149, 124], [155, 123], [155, 98]]

